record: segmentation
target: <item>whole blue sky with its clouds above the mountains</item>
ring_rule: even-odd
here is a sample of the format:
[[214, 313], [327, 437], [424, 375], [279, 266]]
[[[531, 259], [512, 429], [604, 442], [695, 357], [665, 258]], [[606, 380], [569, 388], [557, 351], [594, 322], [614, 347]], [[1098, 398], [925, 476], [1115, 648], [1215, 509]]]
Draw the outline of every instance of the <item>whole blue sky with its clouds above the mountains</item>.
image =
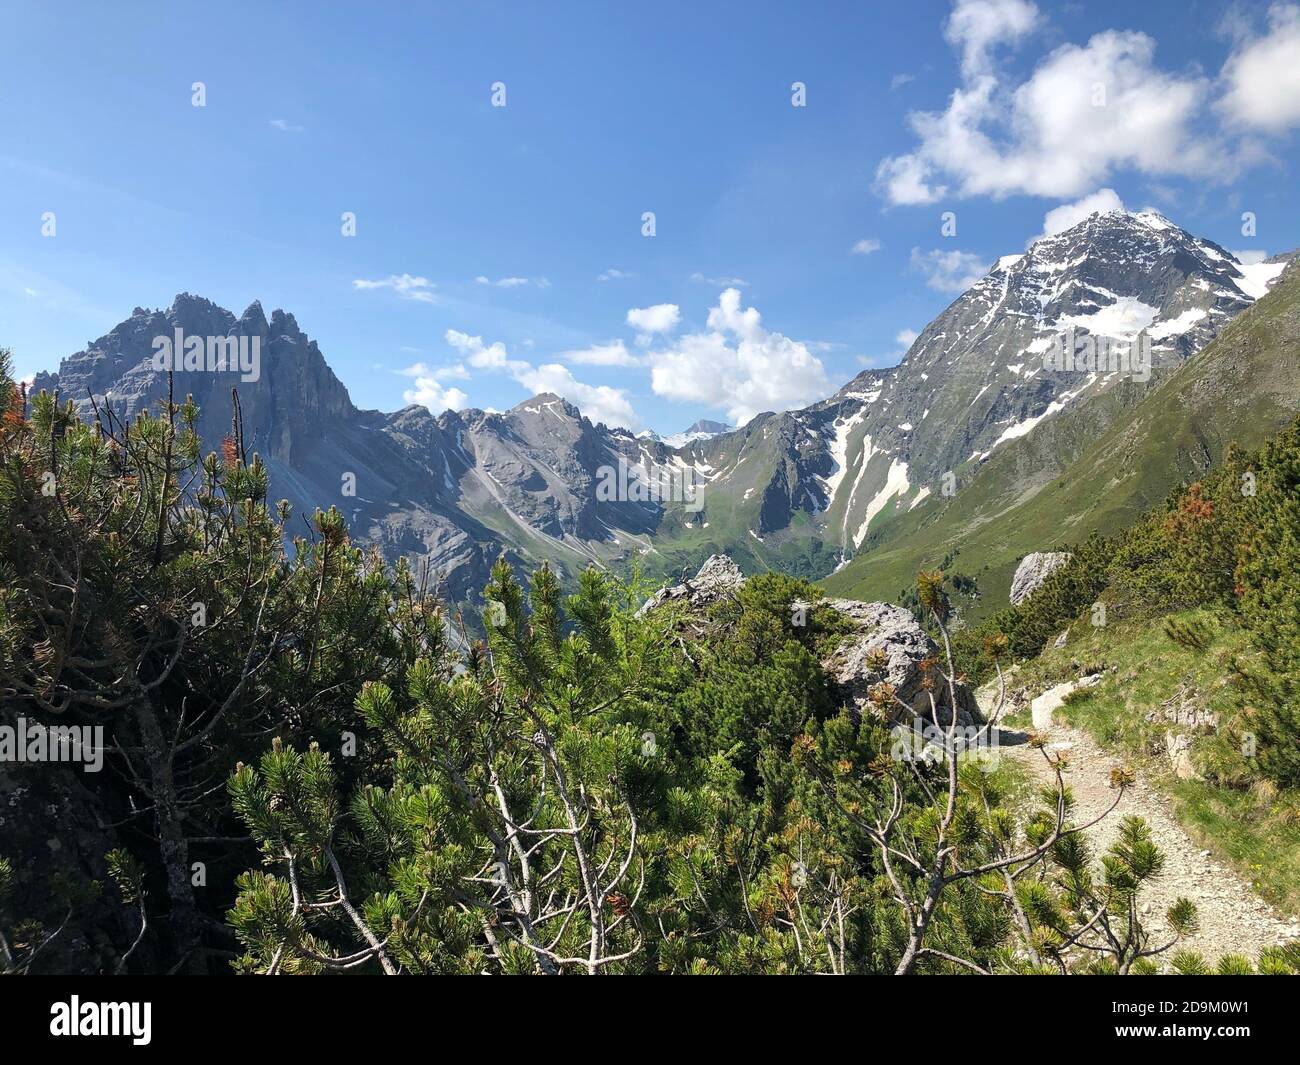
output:
[[897, 362], [1062, 204], [1300, 244], [1286, 4], [9, 3], [0, 29], [23, 375], [191, 291], [291, 311], [360, 406], [549, 388], [668, 433]]

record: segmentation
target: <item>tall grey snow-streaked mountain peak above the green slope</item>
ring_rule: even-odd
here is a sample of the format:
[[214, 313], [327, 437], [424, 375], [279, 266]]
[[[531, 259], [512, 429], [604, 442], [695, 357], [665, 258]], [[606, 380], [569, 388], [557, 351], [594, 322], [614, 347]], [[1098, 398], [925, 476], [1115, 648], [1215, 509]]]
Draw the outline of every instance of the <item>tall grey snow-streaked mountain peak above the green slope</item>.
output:
[[[828, 542], [857, 550], [876, 523], [948, 494], [967, 463], [1119, 380], [1145, 385], [1191, 358], [1283, 267], [1245, 265], [1156, 211], [1097, 212], [1004, 255], [897, 367], [784, 416], [802, 433], [766, 485], [744, 489], [764, 501], [755, 532], [803, 510]], [[1105, 362], [1054, 363], [1066, 345]], [[712, 445], [720, 453], [729, 438]], [[729, 480], [746, 468], [774, 469], [737, 460]]]

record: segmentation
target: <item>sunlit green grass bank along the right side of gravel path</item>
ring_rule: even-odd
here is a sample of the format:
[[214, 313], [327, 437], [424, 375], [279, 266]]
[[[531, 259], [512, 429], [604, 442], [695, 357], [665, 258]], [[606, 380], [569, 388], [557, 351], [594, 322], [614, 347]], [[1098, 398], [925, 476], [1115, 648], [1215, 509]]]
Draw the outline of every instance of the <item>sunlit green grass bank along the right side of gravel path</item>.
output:
[[[1164, 754], [1150, 753], [1152, 743], [1164, 739], [1169, 724], [1148, 722], [1147, 714], [1183, 684], [1195, 687], [1197, 706], [1217, 711], [1221, 726], [1227, 723], [1236, 706], [1230, 663], [1234, 655], [1251, 653], [1245, 635], [1228, 618], [1210, 611], [1173, 616], [1208, 635], [1204, 650], [1175, 644], [1161, 619], [1105, 628], [1092, 628], [1084, 619], [1071, 628], [1065, 648], [1049, 648], [1024, 663], [1014, 683], [1040, 690], [1079, 672], [1105, 670], [1105, 680], [1067, 700], [1058, 715], [1141, 765], [1148, 779], [1170, 796], [1175, 815], [1199, 845], [1235, 869], [1278, 909], [1300, 913], [1300, 795], [1278, 793], [1266, 784], [1178, 780]], [[1227, 740], [1199, 736], [1192, 757], [1199, 766], [1213, 767], [1235, 756]], [[1239, 763], [1239, 771], [1243, 766]]]

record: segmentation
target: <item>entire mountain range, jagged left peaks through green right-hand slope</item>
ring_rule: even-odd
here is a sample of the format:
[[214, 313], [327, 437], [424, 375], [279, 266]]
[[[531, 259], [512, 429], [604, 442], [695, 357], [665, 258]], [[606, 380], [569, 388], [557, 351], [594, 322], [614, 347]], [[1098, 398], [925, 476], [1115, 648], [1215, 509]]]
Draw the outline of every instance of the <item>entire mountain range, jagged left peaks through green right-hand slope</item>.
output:
[[[890, 597], [909, 567], [963, 550], [958, 568], [1005, 601], [1017, 553], [1110, 523], [1053, 525], [1052, 515], [1065, 520], [1082, 507], [1121, 520], [1157, 482], [1300, 406], [1300, 330], [1286, 315], [1271, 329], [1258, 325], [1283, 293], [1260, 315], [1248, 311], [1287, 261], [1243, 264], [1152, 212], [1097, 213], [998, 260], [897, 367], [864, 371], [802, 410], [738, 429], [702, 420], [662, 440], [593, 424], [550, 394], [504, 414], [360, 410], [292, 315], [268, 320], [254, 303], [235, 317], [188, 294], [166, 311], [136, 308], [32, 388], [57, 389], [87, 417], [95, 406], [130, 417], [166, 394], [156, 337], [256, 338], [256, 381], [174, 375], [177, 395], [192, 394], [202, 408], [205, 446], [230, 433], [238, 388], [244, 440], [268, 464], [273, 498], [306, 514], [338, 506], [354, 537], [390, 559], [428, 560], [455, 601], [473, 597], [502, 553], [524, 571], [543, 559], [567, 576], [590, 562], [637, 560], [651, 576], [676, 576], [722, 551], [750, 572], [784, 570]], [[1296, 282], [1279, 287], [1294, 295]], [[1242, 329], [1225, 332], [1234, 321]], [[1080, 351], [1089, 337], [1104, 351], [1127, 350], [1141, 334], [1150, 372], [1046, 367], [1067, 334]], [[1208, 345], [1213, 359], [1197, 354]], [[1274, 362], [1261, 346], [1280, 346]], [[1212, 363], [1214, 372], [1192, 369]], [[1157, 437], [1190, 449], [1191, 462], [1160, 451]], [[1119, 471], [1080, 475], [1071, 484], [1091, 495], [1074, 508], [1045, 490], [1075, 463], [1115, 458], [1121, 441], [1167, 476], [1145, 477], [1132, 493]], [[1117, 505], [1126, 492], [1132, 498]], [[1043, 525], [1015, 518], [1044, 506]], [[963, 546], [998, 528], [1032, 529], [1035, 542], [1004, 533], [988, 549]]]

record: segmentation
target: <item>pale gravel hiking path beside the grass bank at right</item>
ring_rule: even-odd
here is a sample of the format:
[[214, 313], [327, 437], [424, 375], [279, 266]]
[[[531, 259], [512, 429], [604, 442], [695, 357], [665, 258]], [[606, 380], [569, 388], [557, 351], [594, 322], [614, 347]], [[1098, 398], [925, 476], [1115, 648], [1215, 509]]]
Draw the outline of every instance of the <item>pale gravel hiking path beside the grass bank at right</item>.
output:
[[[1046, 724], [1050, 711], [1035, 707], [1035, 724]], [[1110, 770], [1122, 759], [1100, 748], [1086, 732], [1053, 722], [1048, 730], [1049, 749], [1067, 750], [1070, 770], [1066, 783], [1075, 798], [1075, 821], [1087, 823], [1110, 806], [1115, 792], [1110, 787]], [[1035, 780], [1054, 784], [1043, 754], [1027, 745], [1004, 746], [1002, 753], [1030, 769]], [[1245, 883], [1236, 873], [1197, 847], [1174, 817], [1169, 800], [1138, 774], [1138, 783], [1127, 791], [1114, 811], [1089, 830], [1096, 853], [1104, 852], [1128, 814], [1139, 814], [1150, 826], [1152, 840], [1165, 853], [1165, 870], [1141, 895], [1141, 913], [1164, 941], [1169, 932], [1165, 912], [1178, 896], [1196, 902], [1200, 928], [1184, 939], [1178, 949], [1196, 951], [1210, 965], [1222, 954], [1245, 954], [1252, 961], [1265, 947], [1300, 938], [1300, 919], [1286, 918]], [[1162, 956], [1167, 960], [1169, 954]]]

